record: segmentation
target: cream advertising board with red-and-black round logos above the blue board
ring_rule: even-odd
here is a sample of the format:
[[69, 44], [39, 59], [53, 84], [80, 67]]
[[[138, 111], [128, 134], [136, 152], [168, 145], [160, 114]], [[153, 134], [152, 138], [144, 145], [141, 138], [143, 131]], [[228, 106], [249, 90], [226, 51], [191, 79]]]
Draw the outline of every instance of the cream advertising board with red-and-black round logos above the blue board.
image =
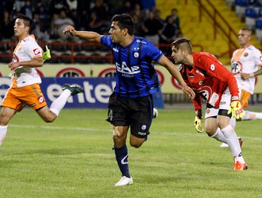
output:
[[[226, 66], [231, 69], [231, 66]], [[0, 76], [9, 76], [11, 73], [8, 64], [0, 64]], [[164, 66], [155, 65], [156, 72], [161, 83], [162, 93], [183, 93], [181, 86], [169, 74]], [[57, 78], [86, 78], [86, 77], [113, 77], [115, 73], [114, 64], [44, 64], [38, 68], [41, 77], [57, 77]], [[262, 93], [262, 76], [256, 76], [255, 93]]]

